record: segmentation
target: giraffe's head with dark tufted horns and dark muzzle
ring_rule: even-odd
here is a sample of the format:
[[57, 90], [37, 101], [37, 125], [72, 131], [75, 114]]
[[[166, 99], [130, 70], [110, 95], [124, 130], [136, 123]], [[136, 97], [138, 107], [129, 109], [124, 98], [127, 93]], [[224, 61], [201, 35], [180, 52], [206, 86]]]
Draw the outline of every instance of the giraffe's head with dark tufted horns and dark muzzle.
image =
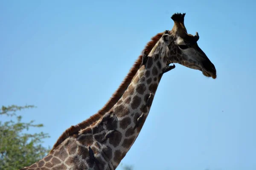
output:
[[162, 43], [166, 46], [166, 62], [179, 63], [188, 68], [202, 71], [204, 76], [215, 79], [216, 69], [212, 62], [208, 59], [204, 51], [199, 48], [197, 41], [199, 35], [188, 34], [184, 26], [185, 14], [173, 14], [172, 20], [174, 26], [171, 31], [164, 31]]

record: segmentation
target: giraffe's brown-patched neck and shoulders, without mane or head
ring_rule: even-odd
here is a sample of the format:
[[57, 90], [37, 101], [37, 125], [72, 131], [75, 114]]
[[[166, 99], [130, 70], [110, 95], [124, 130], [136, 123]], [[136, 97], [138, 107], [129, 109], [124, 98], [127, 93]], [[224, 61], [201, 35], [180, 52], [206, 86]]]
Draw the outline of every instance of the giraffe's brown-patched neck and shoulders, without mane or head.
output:
[[158, 54], [163, 53], [154, 52], [148, 57], [121, 99], [105, 116], [65, 139], [30, 167], [116, 169], [137, 139], [150, 111], [163, 72], [162, 56]]

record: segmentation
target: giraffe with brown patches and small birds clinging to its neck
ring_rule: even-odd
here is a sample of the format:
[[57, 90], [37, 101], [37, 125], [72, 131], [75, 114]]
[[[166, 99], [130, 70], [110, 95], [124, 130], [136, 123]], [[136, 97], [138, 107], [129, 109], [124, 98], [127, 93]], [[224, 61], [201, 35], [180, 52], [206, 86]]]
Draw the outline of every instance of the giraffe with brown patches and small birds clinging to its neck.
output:
[[175, 68], [174, 63], [215, 79], [215, 66], [199, 48], [198, 33], [187, 33], [184, 16], [173, 14], [172, 30], [152, 37], [98, 113], [71, 126], [46, 157], [21, 170], [115, 170], [145, 123], [160, 79]]

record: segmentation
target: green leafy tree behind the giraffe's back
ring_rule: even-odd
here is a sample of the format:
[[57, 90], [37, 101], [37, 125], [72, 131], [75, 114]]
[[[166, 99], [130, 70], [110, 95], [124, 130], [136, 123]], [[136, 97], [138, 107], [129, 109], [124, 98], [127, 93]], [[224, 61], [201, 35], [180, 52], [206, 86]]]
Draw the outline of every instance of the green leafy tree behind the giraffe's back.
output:
[[43, 124], [34, 124], [34, 121], [22, 122], [22, 116], [16, 112], [35, 108], [26, 106], [2, 106], [0, 118], [9, 117], [9, 121], [0, 121], [0, 170], [17, 170], [42, 159], [49, 152], [43, 147], [43, 139], [48, 138], [47, 133], [27, 133], [30, 127], [43, 127]]

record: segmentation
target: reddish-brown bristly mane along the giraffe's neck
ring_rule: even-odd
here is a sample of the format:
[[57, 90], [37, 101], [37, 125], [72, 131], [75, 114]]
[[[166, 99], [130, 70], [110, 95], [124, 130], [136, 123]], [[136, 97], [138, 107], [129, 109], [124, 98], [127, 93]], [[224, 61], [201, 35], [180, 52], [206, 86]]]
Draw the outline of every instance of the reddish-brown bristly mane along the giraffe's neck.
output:
[[[162, 35], [163, 33], [158, 33], [157, 35], [151, 38], [151, 41], [147, 43], [147, 45], [143, 49], [143, 51], [145, 51], [147, 55], [150, 53], [150, 51], [152, 50], [154, 45], [157, 43], [157, 41], [160, 40]], [[91, 124], [99, 120], [106, 112], [108, 112], [113, 107], [113, 105], [116, 104], [116, 102], [121, 98], [125, 90], [128, 88], [128, 85], [131, 83], [132, 78], [139, 70], [141, 62], [142, 62], [142, 55], [140, 55], [138, 59], [134, 62], [134, 65], [130, 69], [129, 73], [126, 75], [125, 79], [122, 81], [119, 88], [113, 93], [113, 95], [108, 100], [108, 102], [103, 106], [103, 108], [99, 110], [98, 113], [94, 114], [93, 116], [90, 116], [89, 119], [84, 120], [78, 125], [71, 126], [67, 130], [65, 130], [64, 133], [62, 133], [62, 135], [58, 138], [57, 142], [53, 145], [52, 150], [55, 149], [55, 147], [61, 144], [61, 142], [63, 142], [69, 136], [78, 134], [79, 130], [84, 129], [87, 126], [90, 126]]]

